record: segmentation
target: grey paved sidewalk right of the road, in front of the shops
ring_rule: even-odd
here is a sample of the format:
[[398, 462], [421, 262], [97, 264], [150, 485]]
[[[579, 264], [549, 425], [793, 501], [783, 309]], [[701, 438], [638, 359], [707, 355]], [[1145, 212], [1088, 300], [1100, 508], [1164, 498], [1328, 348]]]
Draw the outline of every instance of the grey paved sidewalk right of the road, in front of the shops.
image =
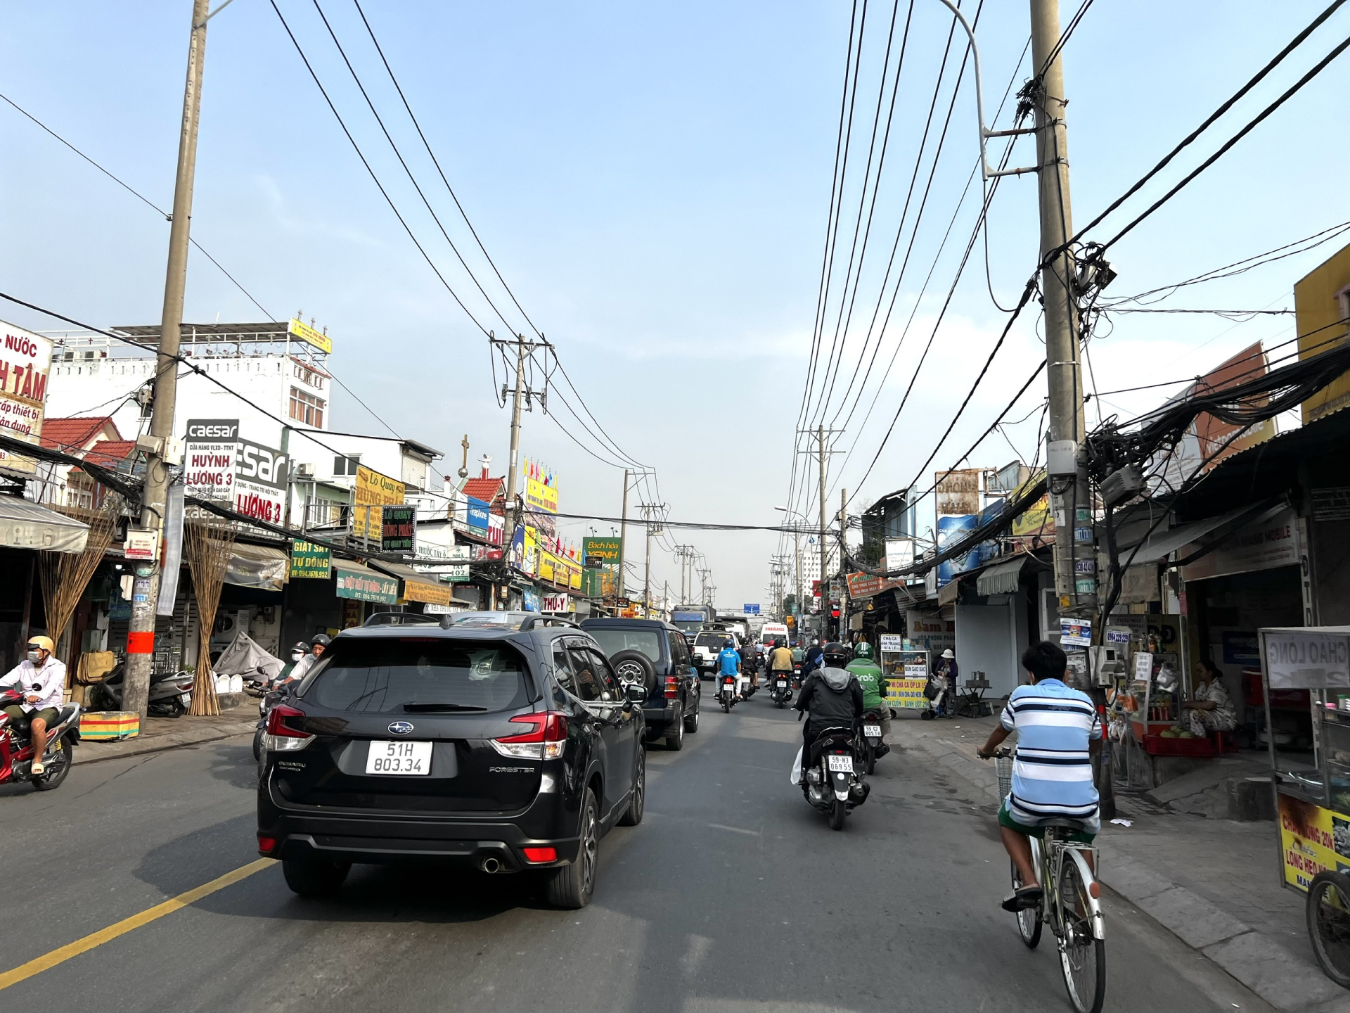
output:
[[[996, 717], [898, 719], [892, 739], [998, 798], [994, 764], [975, 751]], [[1350, 994], [1318, 967], [1301, 894], [1280, 885], [1274, 823], [1235, 823], [1170, 812], [1116, 787], [1116, 816], [1096, 839], [1100, 879], [1280, 1010], [1350, 1013]]]

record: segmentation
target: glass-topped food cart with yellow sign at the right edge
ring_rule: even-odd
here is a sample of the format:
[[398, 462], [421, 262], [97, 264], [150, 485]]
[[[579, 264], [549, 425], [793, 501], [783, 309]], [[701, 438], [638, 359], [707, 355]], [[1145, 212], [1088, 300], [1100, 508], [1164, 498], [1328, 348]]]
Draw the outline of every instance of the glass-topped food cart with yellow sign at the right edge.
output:
[[1308, 931], [1327, 977], [1350, 987], [1350, 627], [1260, 631], [1266, 727], [1272, 696], [1308, 690], [1312, 751], [1269, 736], [1281, 883], [1308, 894]]

